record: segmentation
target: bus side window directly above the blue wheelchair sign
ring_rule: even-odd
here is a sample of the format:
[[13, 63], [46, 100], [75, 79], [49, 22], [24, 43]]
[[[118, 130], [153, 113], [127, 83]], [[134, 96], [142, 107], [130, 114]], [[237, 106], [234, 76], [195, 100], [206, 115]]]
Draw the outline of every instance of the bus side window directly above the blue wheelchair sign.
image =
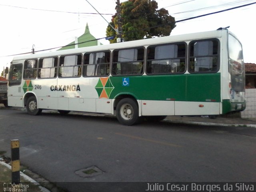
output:
[[144, 52], [144, 48], [113, 51], [112, 75], [143, 74]]

